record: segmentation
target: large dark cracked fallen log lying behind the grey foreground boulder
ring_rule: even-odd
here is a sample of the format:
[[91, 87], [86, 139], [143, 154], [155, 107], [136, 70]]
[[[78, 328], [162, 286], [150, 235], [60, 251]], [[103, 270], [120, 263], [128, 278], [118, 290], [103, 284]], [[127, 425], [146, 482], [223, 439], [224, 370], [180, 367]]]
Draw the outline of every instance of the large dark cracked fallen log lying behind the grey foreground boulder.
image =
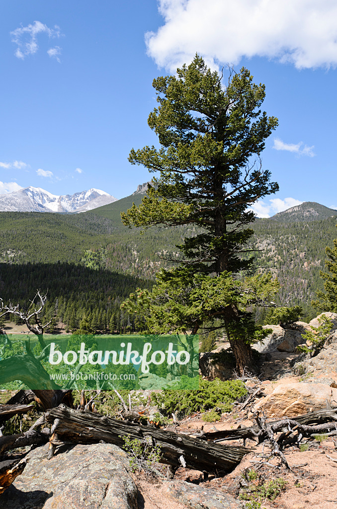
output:
[[123, 437], [129, 437], [152, 440], [158, 444], [162, 463], [219, 475], [231, 472], [251, 450], [246, 447], [214, 444], [85, 410], [73, 410], [63, 404], [48, 410], [45, 420], [52, 424], [50, 457], [56, 446], [67, 442], [89, 444], [102, 440], [123, 448]]

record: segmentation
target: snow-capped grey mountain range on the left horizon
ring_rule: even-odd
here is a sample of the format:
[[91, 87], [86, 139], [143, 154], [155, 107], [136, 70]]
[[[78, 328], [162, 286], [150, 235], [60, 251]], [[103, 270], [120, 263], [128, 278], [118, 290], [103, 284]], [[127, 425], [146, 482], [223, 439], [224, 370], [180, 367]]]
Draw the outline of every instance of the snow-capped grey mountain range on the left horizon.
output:
[[26, 187], [19, 191], [0, 194], [0, 211], [11, 212], [84, 212], [117, 199], [101, 189], [58, 196], [41, 187]]

